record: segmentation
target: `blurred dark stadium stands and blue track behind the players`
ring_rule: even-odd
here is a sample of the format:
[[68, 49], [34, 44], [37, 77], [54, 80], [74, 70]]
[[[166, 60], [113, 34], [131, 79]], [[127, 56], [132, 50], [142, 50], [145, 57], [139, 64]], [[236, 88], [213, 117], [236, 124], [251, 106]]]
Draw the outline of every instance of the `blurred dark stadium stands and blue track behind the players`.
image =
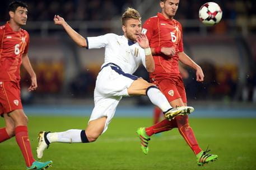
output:
[[[1, 1], [1, 25], [9, 19], [10, 2]], [[159, 1], [155, 0], [25, 2], [29, 4], [29, 15], [24, 29], [30, 33], [29, 56], [39, 85], [35, 92], [28, 93], [29, 75], [22, 70], [22, 101], [28, 115], [88, 116], [93, 108], [95, 79], [104, 49], [78, 48], [62, 27], [54, 25], [55, 14], [64, 17], [83, 36], [96, 36], [122, 34], [120, 15], [127, 7], [136, 8], [142, 21], [160, 12]], [[214, 1], [220, 4], [223, 18], [213, 27], [198, 20], [199, 7], [205, 2], [181, 0], [175, 17], [183, 24], [185, 52], [206, 74], [204, 83], [197, 83], [194, 71], [185, 67], [189, 72], [184, 80], [188, 103], [198, 110], [195, 116], [256, 117], [256, 1]], [[143, 68], [136, 75], [147, 79]], [[118, 108], [117, 115], [152, 113], [147, 97], [124, 98]], [[246, 111], [241, 112], [244, 108]]]

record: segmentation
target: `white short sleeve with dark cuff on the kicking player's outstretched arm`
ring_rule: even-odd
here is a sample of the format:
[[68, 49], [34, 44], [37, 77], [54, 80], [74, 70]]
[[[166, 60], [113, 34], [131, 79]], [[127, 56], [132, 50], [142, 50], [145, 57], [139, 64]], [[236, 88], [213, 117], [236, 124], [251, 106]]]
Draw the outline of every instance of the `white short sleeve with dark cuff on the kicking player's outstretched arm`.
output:
[[107, 46], [115, 34], [105, 34], [101, 36], [86, 37], [87, 49], [100, 49]]

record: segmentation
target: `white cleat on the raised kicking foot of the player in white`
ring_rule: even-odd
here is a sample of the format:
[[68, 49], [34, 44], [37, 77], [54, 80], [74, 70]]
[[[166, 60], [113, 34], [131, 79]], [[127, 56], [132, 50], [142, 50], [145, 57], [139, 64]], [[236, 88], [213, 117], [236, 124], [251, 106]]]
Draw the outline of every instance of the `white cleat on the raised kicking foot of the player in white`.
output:
[[189, 115], [194, 111], [193, 107], [190, 106], [179, 106], [176, 108], [171, 108], [170, 110], [167, 110], [164, 112], [165, 118], [168, 120], [174, 119], [176, 116], [180, 115]]

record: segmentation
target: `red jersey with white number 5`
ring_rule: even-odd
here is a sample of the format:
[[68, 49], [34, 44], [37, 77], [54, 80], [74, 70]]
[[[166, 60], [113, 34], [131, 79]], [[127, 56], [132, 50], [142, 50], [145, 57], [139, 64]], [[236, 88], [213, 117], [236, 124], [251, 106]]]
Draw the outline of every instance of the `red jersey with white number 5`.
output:
[[150, 77], [179, 74], [177, 53], [183, 51], [183, 32], [180, 23], [174, 19], [166, 19], [164, 15], [157, 13], [157, 16], [148, 18], [144, 23], [142, 32], [147, 35], [151, 48], [174, 46], [176, 50], [174, 56], [164, 54], [153, 56], [155, 71], [150, 73]]

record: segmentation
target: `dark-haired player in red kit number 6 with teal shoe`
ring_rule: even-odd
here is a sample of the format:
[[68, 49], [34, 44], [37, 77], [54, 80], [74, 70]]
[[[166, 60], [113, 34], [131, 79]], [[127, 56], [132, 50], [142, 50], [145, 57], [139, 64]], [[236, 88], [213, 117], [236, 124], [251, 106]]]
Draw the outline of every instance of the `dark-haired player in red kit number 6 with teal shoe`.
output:
[[8, 11], [10, 21], [0, 27], [0, 115], [6, 123], [4, 128], [0, 128], [0, 143], [15, 136], [27, 169], [44, 169], [52, 161], [38, 162], [34, 159], [27, 132], [27, 116], [20, 98], [21, 63], [31, 75], [28, 90], [34, 91], [38, 87], [27, 55], [29, 34], [21, 29], [21, 26], [26, 25], [27, 5], [14, 1], [10, 3]]

